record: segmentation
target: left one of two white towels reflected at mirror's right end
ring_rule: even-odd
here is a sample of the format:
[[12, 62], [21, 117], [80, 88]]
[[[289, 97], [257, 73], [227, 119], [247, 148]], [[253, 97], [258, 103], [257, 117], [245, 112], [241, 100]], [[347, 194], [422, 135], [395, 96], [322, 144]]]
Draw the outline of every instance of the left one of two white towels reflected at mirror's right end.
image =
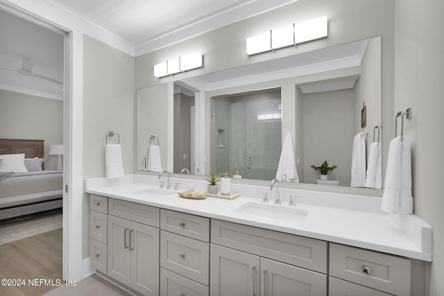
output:
[[353, 139], [351, 187], [366, 186], [366, 139], [359, 132]]

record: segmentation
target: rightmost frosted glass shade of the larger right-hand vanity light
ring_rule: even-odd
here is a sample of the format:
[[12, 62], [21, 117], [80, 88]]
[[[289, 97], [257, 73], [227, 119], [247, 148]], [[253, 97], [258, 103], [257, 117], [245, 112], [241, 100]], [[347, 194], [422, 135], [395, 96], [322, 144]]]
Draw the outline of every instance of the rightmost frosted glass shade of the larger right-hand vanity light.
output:
[[294, 25], [296, 44], [327, 37], [327, 16], [311, 19]]

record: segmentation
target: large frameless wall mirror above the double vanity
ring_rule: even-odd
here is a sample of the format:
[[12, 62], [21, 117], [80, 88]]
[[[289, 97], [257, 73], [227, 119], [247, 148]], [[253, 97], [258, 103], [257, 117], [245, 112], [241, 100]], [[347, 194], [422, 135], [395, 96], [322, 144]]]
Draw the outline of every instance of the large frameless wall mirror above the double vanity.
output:
[[350, 186], [355, 136], [366, 159], [382, 139], [381, 68], [373, 37], [138, 89], [137, 170], [269, 181], [290, 134], [299, 182], [319, 184], [311, 165], [327, 160], [332, 184]]

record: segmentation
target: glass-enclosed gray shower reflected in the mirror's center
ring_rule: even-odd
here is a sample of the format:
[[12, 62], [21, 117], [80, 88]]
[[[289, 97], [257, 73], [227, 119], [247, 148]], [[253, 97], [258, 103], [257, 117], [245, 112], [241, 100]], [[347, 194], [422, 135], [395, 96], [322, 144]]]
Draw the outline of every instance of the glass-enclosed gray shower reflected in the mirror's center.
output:
[[280, 88], [211, 99], [213, 172], [275, 177], [282, 146], [280, 101]]

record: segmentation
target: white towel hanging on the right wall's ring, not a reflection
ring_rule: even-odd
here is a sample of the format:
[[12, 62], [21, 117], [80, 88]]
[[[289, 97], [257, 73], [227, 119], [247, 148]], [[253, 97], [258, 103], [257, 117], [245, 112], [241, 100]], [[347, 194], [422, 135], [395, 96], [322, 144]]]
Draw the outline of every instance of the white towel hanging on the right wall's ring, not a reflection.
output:
[[381, 209], [388, 213], [413, 213], [410, 140], [408, 137], [404, 137], [403, 141], [401, 141], [401, 137], [396, 137], [390, 142]]

